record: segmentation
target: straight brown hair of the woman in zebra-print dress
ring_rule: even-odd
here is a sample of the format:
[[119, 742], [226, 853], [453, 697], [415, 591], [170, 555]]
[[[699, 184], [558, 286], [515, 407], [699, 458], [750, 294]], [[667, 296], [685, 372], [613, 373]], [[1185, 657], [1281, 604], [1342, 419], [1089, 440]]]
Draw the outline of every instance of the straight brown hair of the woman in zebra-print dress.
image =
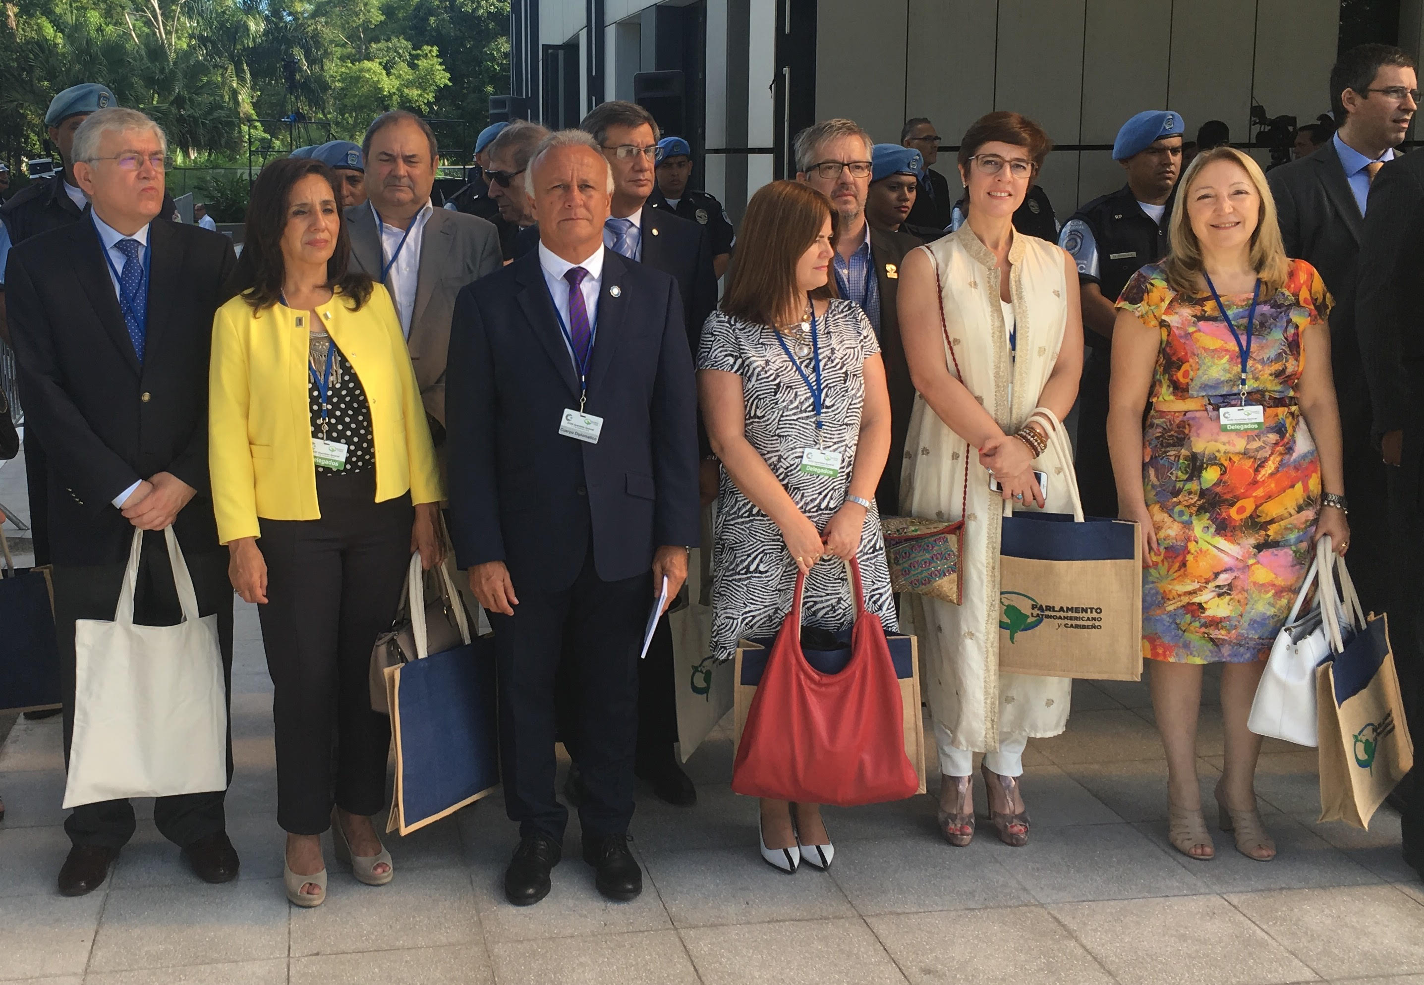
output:
[[[762, 185], [742, 216], [722, 310], [756, 325], [772, 325], [780, 306], [797, 292], [796, 260], [816, 242], [826, 216], [834, 249], [840, 218], [829, 198], [800, 181]], [[827, 278], [810, 296], [834, 297], [836, 279]]]

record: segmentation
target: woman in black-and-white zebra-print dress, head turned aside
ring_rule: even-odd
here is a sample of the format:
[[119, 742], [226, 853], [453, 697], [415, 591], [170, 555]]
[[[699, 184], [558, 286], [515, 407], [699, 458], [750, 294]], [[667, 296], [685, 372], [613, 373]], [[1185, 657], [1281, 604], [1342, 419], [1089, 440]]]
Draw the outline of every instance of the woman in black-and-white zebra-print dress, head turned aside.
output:
[[[698, 353], [698, 393], [722, 463], [712, 547], [712, 655], [772, 638], [806, 574], [802, 625], [854, 622], [844, 565], [859, 558], [866, 608], [894, 632], [876, 485], [890, 454], [890, 396], [874, 330], [829, 278], [836, 212], [816, 189], [775, 181], [742, 235]], [[829, 564], [817, 564], [819, 561]], [[830, 865], [817, 804], [762, 799], [762, 858], [783, 873]], [[795, 811], [795, 813], [793, 813]]]

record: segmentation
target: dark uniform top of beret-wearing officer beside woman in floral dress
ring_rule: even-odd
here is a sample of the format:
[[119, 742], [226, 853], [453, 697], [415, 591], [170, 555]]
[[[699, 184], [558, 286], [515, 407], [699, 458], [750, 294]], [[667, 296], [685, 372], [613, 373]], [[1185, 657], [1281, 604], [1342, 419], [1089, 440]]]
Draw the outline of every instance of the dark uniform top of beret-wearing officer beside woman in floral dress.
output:
[[1132, 275], [1166, 256], [1171, 199], [1156, 219], [1124, 185], [1095, 198], [1064, 223], [1058, 245], [1078, 265], [1078, 279], [1095, 283], [1102, 296], [1116, 302]]

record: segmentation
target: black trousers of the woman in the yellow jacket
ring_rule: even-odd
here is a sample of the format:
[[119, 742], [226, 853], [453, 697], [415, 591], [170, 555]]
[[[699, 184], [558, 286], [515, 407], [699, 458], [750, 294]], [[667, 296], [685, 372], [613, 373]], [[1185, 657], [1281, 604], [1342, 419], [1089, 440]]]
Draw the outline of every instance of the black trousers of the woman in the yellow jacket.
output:
[[258, 541], [268, 567], [258, 615], [272, 675], [276, 820], [292, 834], [330, 827], [333, 800], [352, 814], [386, 803], [390, 719], [370, 710], [367, 675], [376, 636], [400, 602], [414, 521], [409, 495], [375, 501], [372, 470], [318, 473], [316, 495], [320, 520], [262, 520]]

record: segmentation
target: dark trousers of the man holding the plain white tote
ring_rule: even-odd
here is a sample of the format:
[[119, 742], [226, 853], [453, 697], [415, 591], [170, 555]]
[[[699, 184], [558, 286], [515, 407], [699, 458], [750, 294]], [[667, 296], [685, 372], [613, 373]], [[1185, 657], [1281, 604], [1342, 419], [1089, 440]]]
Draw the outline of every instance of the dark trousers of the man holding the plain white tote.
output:
[[[28, 461], [26, 463], [28, 465]], [[232, 692], [232, 584], [228, 581], [228, 552], [185, 554], [188, 572], [198, 595], [198, 611], [218, 616], [218, 643], [222, 649], [222, 675]], [[66, 567], [54, 565], [54, 623], [60, 643], [60, 670], [64, 675], [64, 762], [70, 760], [74, 739], [74, 622], [75, 619], [112, 619], [127, 565]], [[134, 622], [145, 626], [172, 626], [182, 621], [178, 591], [164, 535], [144, 534], [138, 564], [138, 588], [134, 594]], [[228, 781], [232, 781], [232, 729], [228, 729]], [[224, 790], [158, 797], [154, 824], [174, 844], [188, 846], [224, 830]], [[134, 807], [128, 800], [104, 800], [75, 807], [64, 821], [75, 846], [118, 848], [134, 837]]]

